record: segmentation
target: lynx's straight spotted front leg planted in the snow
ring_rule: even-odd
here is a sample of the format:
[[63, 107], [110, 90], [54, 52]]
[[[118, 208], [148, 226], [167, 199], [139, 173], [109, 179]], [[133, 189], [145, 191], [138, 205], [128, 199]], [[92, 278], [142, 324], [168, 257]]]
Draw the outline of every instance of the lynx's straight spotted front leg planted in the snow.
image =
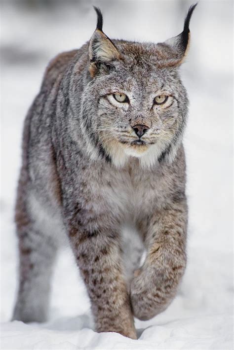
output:
[[136, 339], [117, 240], [97, 231], [79, 235], [76, 230], [70, 231], [70, 239], [91, 300], [96, 330]]

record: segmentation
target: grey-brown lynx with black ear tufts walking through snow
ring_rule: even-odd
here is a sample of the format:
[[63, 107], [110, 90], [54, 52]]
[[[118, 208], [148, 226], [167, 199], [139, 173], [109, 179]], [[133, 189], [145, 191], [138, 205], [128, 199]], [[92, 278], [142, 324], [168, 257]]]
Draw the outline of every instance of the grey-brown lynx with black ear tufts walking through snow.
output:
[[175, 297], [188, 212], [179, 67], [195, 6], [183, 32], [157, 44], [111, 40], [95, 8], [89, 42], [49, 63], [24, 124], [13, 319], [46, 319], [65, 236], [97, 332], [136, 339], [133, 317], [150, 319]]

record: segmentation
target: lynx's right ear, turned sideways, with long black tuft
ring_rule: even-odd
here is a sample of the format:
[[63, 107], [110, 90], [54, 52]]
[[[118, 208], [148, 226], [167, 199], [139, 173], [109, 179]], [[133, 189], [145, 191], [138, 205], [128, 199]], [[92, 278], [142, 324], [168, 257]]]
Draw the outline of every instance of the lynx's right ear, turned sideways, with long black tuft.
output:
[[164, 54], [165, 58], [167, 58], [167, 66], [177, 66], [180, 65], [189, 49], [190, 44], [190, 19], [192, 16], [192, 13], [196, 7], [197, 3], [195, 5], [190, 6], [189, 11], [185, 17], [185, 23], [184, 23], [184, 30], [182, 33], [180, 33], [177, 36], [174, 36], [163, 43], [158, 43], [157, 46], [164, 48]]

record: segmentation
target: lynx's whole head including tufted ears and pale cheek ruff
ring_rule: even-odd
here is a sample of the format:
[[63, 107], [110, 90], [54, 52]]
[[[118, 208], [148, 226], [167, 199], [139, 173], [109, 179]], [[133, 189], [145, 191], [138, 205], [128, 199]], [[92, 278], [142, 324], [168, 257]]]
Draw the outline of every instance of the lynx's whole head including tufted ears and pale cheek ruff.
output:
[[[89, 47], [83, 123], [96, 151], [117, 166], [171, 162], [181, 144], [188, 99], [179, 77], [189, 47], [190, 7], [183, 32], [163, 43], [111, 40], [97, 28]], [[88, 96], [88, 98], [87, 98]]]

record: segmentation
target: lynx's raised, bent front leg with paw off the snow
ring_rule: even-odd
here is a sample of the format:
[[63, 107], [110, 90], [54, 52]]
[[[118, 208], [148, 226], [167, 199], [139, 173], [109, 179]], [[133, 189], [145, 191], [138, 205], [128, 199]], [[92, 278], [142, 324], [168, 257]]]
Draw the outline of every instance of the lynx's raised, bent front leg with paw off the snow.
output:
[[134, 315], [150, 319], [173, 300], [186, 266], [186, 203], [156, 212], [146, 235], [146, 260], [135, 272], [130, 298]]

